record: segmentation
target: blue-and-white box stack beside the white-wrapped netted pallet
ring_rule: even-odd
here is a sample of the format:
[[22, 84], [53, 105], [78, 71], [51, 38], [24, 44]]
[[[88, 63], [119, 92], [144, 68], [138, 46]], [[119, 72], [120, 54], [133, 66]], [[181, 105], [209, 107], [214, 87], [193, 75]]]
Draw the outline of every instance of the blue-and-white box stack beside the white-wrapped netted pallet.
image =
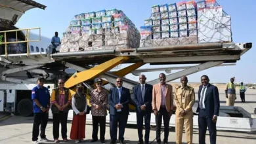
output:
[[155, 5], [140, 27], [140, 47], [198, 43], [196, 26], [194, 1]]

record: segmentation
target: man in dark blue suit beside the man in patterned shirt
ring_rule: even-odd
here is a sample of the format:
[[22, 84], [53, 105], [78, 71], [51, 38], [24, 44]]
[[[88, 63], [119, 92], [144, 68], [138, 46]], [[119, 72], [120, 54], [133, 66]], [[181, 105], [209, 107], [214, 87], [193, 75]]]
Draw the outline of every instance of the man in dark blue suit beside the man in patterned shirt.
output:
[[121, 78], [116, 79], [116, 87], [110, 89], [108, 103], [110, 104], [110, 137], [111, 144], [117, 140], [117, 123], [119, 124], [119, 141], [123, 144], [125, 126], [129, 115], [129, 102], [131, 99], [130, 91], [122, 87]]

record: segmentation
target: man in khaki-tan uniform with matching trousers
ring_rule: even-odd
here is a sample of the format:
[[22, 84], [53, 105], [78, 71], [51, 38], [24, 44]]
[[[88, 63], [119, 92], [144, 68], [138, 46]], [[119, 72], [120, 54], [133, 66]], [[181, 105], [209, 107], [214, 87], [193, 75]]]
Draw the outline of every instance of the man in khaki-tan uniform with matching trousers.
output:
[[175, 87], [175, 103], [177, 106], [175, 119], [176, 143], [182, 143], [182, 132], [185, 122], [186, 141], [192, 144], [193, 140], [193, 111], [192, 107], [195, 103], [194, 88], [188, 86], [188, 78], [181, 77], [182, 86]]

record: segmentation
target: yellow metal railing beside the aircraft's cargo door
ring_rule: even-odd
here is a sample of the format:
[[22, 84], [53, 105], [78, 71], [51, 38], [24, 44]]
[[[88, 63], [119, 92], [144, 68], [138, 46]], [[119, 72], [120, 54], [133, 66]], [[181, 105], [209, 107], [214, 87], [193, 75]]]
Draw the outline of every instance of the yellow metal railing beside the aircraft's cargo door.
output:
[[[31, 30], [34, 30], [34, 29], [39, 29], [39, 39], [30, 40]], [[18, 41], [18, 31], [25, 31], [25, 33], [24, 33], [25, 41]], [[7, 37], [7, 33], [11, 33], [11, 32], [15, 32], [16, 33], [16, 41], [9, 41], [8, 42], [7, 41], [7, 38], [8, 38]], [[3, 33], [3, 35], [1, 33]], [[5, 38], [4, 41], [3, 41], [3, 37]], [[8, 31], [0, 31], [0, 45], [5, 45], [5, 58], [7, 58], [7, 56], [8, 56], [8, 52], [7, 52], [7, 45], [8, 44], [26, 43], [26, 45], [27, 45], [27, 56], [29, 56], [29, 54], [30, 54], [29, 42], [37, 42], [37, 41], [41, 41], [41, 28], [40, 27], [28, 28], [28, 29], [14, 29], [14, 30], [8, 30]]]

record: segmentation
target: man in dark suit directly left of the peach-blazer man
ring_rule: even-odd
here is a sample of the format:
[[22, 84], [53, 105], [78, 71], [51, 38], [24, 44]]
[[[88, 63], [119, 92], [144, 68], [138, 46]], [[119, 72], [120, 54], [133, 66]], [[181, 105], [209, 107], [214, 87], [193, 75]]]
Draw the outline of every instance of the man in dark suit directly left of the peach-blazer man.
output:
[[143, 144], [143, 117], [145, 119], [145, 144], [149, 144], [149, 135], [150, 135], [150, 118], [152, 111], [152, 90], [153, 86], [146, 84], [145, 75], [140, 75], [139, 77], [140, 84], [133, 88], [134, 99], [136, 103], [136, 112], [137, 112], [137, 128], [139, 135], [139, 143]]

